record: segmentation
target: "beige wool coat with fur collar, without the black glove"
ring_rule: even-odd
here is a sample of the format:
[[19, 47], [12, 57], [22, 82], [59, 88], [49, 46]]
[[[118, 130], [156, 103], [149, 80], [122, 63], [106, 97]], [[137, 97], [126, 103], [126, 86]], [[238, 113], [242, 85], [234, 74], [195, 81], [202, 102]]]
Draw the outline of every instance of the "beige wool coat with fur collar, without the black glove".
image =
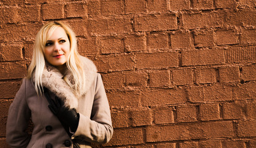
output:
[[[70, 138], [59, 119], [49, 110], [44, 94], [35, 91], [35, 75], [24, 78], [14, 102], [10, 105], [6, 141], [10, 147], [73, 147], [72, 139], [80, 147], [91, 147], [91, 143], [104, 144], [112, 138], [113, 127], [109, 102], [105, 94], [102, 78], [93, 62], [81, 57], [86, 78], [86, 88], [77, 95], [72, 86], [73, 75], [67, 70], [62, 75], [55, 67], [46, 65], [42, 83], [49, 89], [52, 99], [62, 99], [65, 106], [76, 109], [80, 114], [78, 128]], [[70, 83], [70, 85], [68, 85]], [[26, 133], [28, 121], [32, 120], [32, 134]]]

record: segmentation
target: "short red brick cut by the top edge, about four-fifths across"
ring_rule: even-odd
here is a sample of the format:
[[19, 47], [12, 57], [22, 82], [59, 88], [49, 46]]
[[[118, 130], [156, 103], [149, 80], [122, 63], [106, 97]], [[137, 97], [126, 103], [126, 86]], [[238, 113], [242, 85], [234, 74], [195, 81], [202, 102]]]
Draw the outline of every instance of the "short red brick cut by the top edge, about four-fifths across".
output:
[[213, 9], [213, 0], [192, 0], [193, 9], [205, 10]]

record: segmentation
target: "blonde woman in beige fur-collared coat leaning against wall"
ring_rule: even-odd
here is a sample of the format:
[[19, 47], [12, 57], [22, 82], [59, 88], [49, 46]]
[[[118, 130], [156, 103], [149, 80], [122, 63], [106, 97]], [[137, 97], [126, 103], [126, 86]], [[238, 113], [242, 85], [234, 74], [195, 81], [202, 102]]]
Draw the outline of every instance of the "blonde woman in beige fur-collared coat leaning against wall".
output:
[[[25, 132], [30, 118], [31, 136]], [[6, 129], [10, 147], [91, 147], [112, 137], [101, 75], [78, 54], [75, 34], [64, 23], [50, 22], [39, 30]]]

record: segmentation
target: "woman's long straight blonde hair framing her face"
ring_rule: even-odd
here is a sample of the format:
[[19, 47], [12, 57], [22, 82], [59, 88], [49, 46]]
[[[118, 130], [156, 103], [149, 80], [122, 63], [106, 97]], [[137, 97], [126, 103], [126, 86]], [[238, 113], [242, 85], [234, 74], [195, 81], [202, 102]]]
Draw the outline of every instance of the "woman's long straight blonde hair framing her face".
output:
[[[64, 28], [70, 41], [70, 54], [67, 59], [67, 68], [73, 74], [73, 81], [75, 82], [75, 92], [80, 95], [83, 89], [85, 89], [85, 75], [83, 68], [81, 67], [80, 54], [78, 54], [76, 36], [73, 30], [68, 25], [61, 22], [49, 22], [43, 25], [36, 35], [35, 44], [33, 47], [33, 57], [28, 67], [27, 78], [32, 77], [32, 73], [35, 73], [35, 89], [37, 94], [41, 94], [43, 91], [42, 76], [43, 70], [46, 64], [44, 59], [44, 47], [46, 45], [47, 38], [52, 35], [53, 31], [57, 27]], [[70, 86], [72, 84], [68, 83]]]

